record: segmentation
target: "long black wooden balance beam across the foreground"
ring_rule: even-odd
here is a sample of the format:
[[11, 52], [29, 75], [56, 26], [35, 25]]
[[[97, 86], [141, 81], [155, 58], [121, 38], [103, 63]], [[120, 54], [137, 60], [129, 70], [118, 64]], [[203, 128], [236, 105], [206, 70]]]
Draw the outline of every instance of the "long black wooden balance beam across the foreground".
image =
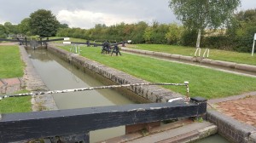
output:
[[207, 102], [182, 100], [126, 106], [100, 106], [81, 109], [3, 114], [0, 142], [30, 140], [61, 134], [89, 133], [121, 125], [151, 123], [205, 113]]

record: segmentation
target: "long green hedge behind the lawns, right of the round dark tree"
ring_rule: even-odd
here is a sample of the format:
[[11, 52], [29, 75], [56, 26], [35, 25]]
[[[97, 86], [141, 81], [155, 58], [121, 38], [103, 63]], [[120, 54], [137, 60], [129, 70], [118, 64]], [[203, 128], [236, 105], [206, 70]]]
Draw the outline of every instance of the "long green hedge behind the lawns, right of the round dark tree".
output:
[[[251, 52], [256, 33], [256, 9], [233, 14], [223, 28], [201, 31], [201, 47]], [[58, 37], [77, 37], [87, 40], [132, 40], [132, 43], [173, 44], [195, 47], [198, 31], [177, 23], [149, 25], [140, 21], [134, 24], [120, 23], [113, 26], [97, 24], [94, 28], [62, 28]]]

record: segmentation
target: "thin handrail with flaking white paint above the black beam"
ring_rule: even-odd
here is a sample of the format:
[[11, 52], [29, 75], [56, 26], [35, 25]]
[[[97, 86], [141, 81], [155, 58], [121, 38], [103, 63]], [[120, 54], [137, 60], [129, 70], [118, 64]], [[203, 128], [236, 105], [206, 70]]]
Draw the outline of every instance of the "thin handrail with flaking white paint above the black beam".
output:
[[61, 94], [85, 90], [95, 90], [95, 89], [112, 89], [112, 88], [121, 88], [121, 87], [130, 87], [130, 86], [141, 86], [141, 85], [174, 85], [174, 86], [186, 86], [187, 87], [187, 97], [189, 97], [189, 82], [184, 83], [133, 83], [133, 84], [119, 84], [119, 85], [109, 85], [109, 86], [99, 86], [99, 87], [90, 87], [82, 89], [64, 89], [64, 90], [52, 90], [46, 92], [38, 93], [26, 93], [26, 94], [9, 94], [0, 96], [0, 100], [8, 97], [20, 97], [20, 96], [35, 96], [40, 94]]

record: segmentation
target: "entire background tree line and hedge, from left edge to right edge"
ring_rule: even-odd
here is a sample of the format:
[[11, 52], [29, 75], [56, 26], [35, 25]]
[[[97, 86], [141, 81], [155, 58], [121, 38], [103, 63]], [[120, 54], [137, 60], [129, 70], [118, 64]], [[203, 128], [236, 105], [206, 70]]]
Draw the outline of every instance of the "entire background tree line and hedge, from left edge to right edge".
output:
[[[38, 15], [44, 15], [44, 18]], [[44, 20], [45, 15], [48, 16], [48, 21]], [[38, 28], [38, 26], [41, 28]], [[254, 33], [256, 33], [256, 9], [248, 9], [232, 14], [222, 29], [210, 26], [202, 29], [201, 47], [250, 52]], [[12, 25], [10, 22], [0, 25], [0, 37], [7, 37], [8, 34], [77, 37], [84, 40], [118, 42], [131, 39], [132, 43], [174, 44], [195, 47], [198, 27], [191, 28], [177, 23], [161, 24], [157, 21], [148, 24], [140, 21], [133, 24], [122, 22], [113, 26], [96, 24], [95, 27], [90, 29], [69, 28], [67, 24], [61, 24], [56, 20], [51, 11], [39, 9], [32, 13], [29, 18], [21, 20], [18, 25]]]

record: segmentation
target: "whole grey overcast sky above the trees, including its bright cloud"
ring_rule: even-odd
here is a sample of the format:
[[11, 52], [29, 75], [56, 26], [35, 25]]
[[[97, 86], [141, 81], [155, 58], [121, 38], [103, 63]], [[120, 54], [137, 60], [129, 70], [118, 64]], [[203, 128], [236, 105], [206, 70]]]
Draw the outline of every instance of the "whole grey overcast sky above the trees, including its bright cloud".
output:
[[[168, 7], [169, 0], [0, 0], [0, 23], [19, 24], [38, 9], [51, 10], [61, 23], [70, 27], [91, 28], [154, 20], [178, 22]], [[241, 0], [241, 8], [256, 9], [256, 0]]]

